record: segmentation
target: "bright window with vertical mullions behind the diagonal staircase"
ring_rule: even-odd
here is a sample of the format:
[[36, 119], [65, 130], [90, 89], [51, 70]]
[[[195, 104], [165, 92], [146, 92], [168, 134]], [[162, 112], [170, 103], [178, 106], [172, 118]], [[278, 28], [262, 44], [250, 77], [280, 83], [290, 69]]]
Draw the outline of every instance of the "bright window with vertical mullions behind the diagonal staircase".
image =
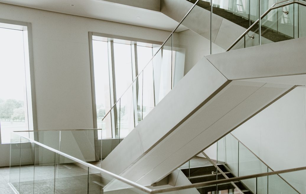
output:
[[[102, 131], [98, 131], [98, 137], [99, 139], [125, 137], [130, 129], [138, 124], [137, 118], [135, 118], [137, 117], [135, 116], [135, 108], [137, 107], [136, 111], [138, 111], [136, 114], [140, 116], [140, 111], [142, 114], [147, 114], [154, 107], [153, 90], [148, 90], [138, 98], [141, 98], [141, 106], [138, 105], [140, 100], [134, 102], [133, 96], [136, 95], [136, 91], [133, 91], [132, 87], [126, 91], [138, 72], [141, 72], [152, 58], [153, 44], [101, 36], [92, 36], [90, 41], [92, 41], [91, 70], [94, 76], [92, 79], [94, 87], [92, 89], [94, 90], [93, 104], [95, 106], [93, 107], [96, 113], [94, 123], [96, 122], [96, 128], [102, 128]], [[149, 65], [151, 68], [146, 68], [146, 72], [141, 73], [147, 75], [141, 77], [141, 84], [153, 88], [152, 63], [150, 62]], [[143, 87], [139, 86], [139, 88], [142, 89]], [[120, 98], [120, 102], [116, 104], [115, 112], [108, 114], [102, 121], [110, 108]], [[116, 131], [119, 120], [120, 136], [119, 132]]]

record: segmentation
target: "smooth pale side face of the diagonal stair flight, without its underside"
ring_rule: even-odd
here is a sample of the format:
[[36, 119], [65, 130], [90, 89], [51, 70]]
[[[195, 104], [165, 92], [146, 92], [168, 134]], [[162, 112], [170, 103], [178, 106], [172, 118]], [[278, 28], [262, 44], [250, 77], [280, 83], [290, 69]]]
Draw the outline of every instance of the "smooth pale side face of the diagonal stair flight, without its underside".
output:
[[102, 161], [101, 168], [116, 174], [130, 169], [229, 82], [207, 59], [200, 60]]

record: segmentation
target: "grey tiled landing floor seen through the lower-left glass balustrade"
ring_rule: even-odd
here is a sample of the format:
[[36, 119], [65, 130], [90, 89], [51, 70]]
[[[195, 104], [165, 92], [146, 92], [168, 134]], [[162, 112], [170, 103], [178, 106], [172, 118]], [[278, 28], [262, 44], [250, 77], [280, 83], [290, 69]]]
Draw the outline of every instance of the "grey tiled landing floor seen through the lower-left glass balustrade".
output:
[[[100, 162], [90, 162], [99, 166]], [[20, 172], [20, 173], [19, 173]], [[14, 194], [9, 186], [13, 186], [22, 194], [84, 194], [88, 189], [90, 180], [90, 193], [100, 194], [101, 185], [107, 184], [111, 178], [101, 176], [95, 170], [73, 163], [60, 165], [23, 165], [21, 168], [0, 168], [0, 194]], [[97, 184], [99, 183], [99, 184]]]

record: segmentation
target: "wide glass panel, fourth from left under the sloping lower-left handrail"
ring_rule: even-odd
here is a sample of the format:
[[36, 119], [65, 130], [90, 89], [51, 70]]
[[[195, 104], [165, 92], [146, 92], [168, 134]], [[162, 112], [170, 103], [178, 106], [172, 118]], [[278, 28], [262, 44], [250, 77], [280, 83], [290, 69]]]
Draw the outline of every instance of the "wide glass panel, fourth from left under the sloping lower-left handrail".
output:
[[88, 167], [56, 154], [55, 194], [84, 194], [88, 191]]

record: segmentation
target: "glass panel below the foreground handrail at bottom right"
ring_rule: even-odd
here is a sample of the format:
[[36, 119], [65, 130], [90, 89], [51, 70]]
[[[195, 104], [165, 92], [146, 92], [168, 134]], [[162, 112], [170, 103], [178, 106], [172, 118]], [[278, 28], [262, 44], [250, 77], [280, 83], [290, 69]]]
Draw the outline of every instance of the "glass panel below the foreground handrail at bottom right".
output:
[[[304, 167], [305, 168], [305, 167]], [[303, 168], [303, 169], [304, 169]], [[288, 169], [288, 170], [295, 170], [295, 169]], [[266, 172], [267, 173], [267, 172]], [[237, 193], [253, 193], [253, 194], [262, 194], [262, 193], [270, 193], [270, 194], [279, 194], [279, 193], [290, 193], [290, 194], [297, 194], [297, 193], [305, 193], [305, 184], [304, 184], [304, 177], [306, 170], [298, 170], [289, 173], [279, 173], [275, 175], [267, 175], [266, 173], [263, 174], [252, 174], [252, 178], [239, 178], [239, 177], [232, 177], [231, 180], [222, 179], [215, 179], [212, 181], [203, 181], [196, 184], [190, 185], [184, 184], [180, 185], [180, 188], [173, 188], [169, 189], [165, 188], [164, 190], [154, 191], [154, 193], [171, 193], [171, 192], [178, 192], [178, 193], [206, 193], [206, 194], [237, 194]], [[278, 177], [292, 177], [290, 180], [290, 184], [282, 181], [282, 179]], [[263, 181], [267, 181], [263, 184]], [[244, 182], [252, 183], [251, 186], [247, 186]], [[215, 184], [214, 184], [215, 183]], [[201, 186], [200, 186], [201, 185]], [[183, 186], [183, 187], [181, 187]], [[190, 189], [183, 189], [183, 188]], [[191, 189], [197, 189], [191, 190]]]

